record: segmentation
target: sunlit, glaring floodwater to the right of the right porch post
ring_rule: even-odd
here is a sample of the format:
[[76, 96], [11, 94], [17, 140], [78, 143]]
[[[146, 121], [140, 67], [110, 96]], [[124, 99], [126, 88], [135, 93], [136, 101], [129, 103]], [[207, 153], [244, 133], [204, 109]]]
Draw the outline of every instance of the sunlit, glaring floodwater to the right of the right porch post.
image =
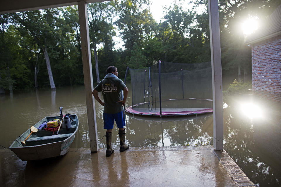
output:
[[[225, 150], [257, 186], [280, 186], [280, 106], [251, 96], [228, 100]], [[241, 103], [253, 107], [245, 110]]]

